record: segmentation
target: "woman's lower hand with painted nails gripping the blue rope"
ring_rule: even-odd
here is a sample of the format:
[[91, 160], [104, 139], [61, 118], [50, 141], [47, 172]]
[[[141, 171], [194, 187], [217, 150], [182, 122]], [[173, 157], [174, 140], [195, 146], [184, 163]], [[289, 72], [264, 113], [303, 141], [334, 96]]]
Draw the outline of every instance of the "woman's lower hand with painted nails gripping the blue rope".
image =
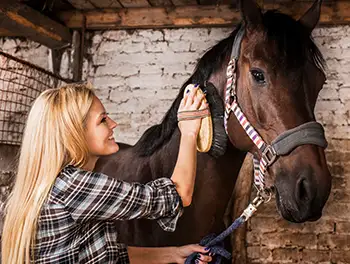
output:
[[212, 261], [212, 257], [208, 255], [209, 251], [205, 250], [204, 247], [191, 244], [182, 247], [175, 248], [175, 263], [183, 264], [185, 263], [186, 258], [192, 253], [198, 253], [198, 257], [196, 263], [198, 264], [207, 264]]

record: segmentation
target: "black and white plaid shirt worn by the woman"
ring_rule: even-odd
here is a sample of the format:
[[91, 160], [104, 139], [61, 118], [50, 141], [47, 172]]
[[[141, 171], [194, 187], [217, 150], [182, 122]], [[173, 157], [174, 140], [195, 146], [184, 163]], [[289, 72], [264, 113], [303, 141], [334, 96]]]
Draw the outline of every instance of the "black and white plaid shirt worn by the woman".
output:
[[129, 263], [117, 242], [113, 220], [158, 219], [174, 231], [183, 207], [173, 182], [145, 185], [67, 166], [58, 175], [41, 210], [35, 263]]

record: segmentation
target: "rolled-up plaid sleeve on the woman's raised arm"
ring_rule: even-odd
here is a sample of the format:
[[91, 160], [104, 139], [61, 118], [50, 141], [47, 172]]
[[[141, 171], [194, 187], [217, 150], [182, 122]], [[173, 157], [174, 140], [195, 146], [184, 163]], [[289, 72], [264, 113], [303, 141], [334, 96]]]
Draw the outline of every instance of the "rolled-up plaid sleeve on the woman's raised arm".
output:
[[83, 170], [69, 177], [63, 200], [75, 221], [157, 219], [165, 231], [175, 230], [183, 211], [181, 198], [168, 178], [127, 183]]

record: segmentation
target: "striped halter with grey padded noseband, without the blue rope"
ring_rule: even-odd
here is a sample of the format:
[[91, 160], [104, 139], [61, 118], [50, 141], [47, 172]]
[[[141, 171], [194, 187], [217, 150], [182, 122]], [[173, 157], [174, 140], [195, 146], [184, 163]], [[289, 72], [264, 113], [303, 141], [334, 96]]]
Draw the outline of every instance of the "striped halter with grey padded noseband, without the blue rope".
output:
[[272, 192], [266, 187], [265, 174], [268, 167], [270, 167], [275, 162], [278, 156], [287, 155], [294, 148], [305, 144], [313, 144], [326, 148], [327, 140], [324, 136], [324, 129], [322, 125], [318, 122], [311, 121], [283, 132], [269, 145], [262, 139], [259, 133], [249, 123], [248, 119], [238, 105], [236, 94], [236, 67], [239, 59], [240, 47], [244, 32], [244, 27], [241, 26], [233, 42], [231, 57], [227, 66], [224, 126], [226, 134], [228, 135], [228, 118], [230, 113], [233, 112], [243, 127], [244, 131], [254, 142], [261, 153], [260, 160], [255, 155], [253, 156], [254, 185], [258, 190], [259, 198], [258, 200], [255, 200], [255, 205], [257, 207], [262, 202], [268, 201], [271, 198]]

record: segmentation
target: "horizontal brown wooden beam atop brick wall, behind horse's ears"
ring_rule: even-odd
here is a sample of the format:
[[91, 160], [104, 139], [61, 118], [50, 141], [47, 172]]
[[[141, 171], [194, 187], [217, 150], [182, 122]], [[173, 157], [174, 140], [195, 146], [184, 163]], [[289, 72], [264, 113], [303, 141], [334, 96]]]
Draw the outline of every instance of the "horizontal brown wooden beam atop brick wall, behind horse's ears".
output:
[[[311, 3], [289, 2], [265, 4], [264, 9], [277, 9], [298, 19], [310, 6]], [[86, 16], [86, 28], [96, 30], [232, 26], [241, 20], [240, 12], [228, 5], [67, 11], [59, 13], [58, 17], [67, 27], [80, 28], [84, 15]], [[341, 1], [323, 4], [320, 24], [350, 24], [350, 3]]]

